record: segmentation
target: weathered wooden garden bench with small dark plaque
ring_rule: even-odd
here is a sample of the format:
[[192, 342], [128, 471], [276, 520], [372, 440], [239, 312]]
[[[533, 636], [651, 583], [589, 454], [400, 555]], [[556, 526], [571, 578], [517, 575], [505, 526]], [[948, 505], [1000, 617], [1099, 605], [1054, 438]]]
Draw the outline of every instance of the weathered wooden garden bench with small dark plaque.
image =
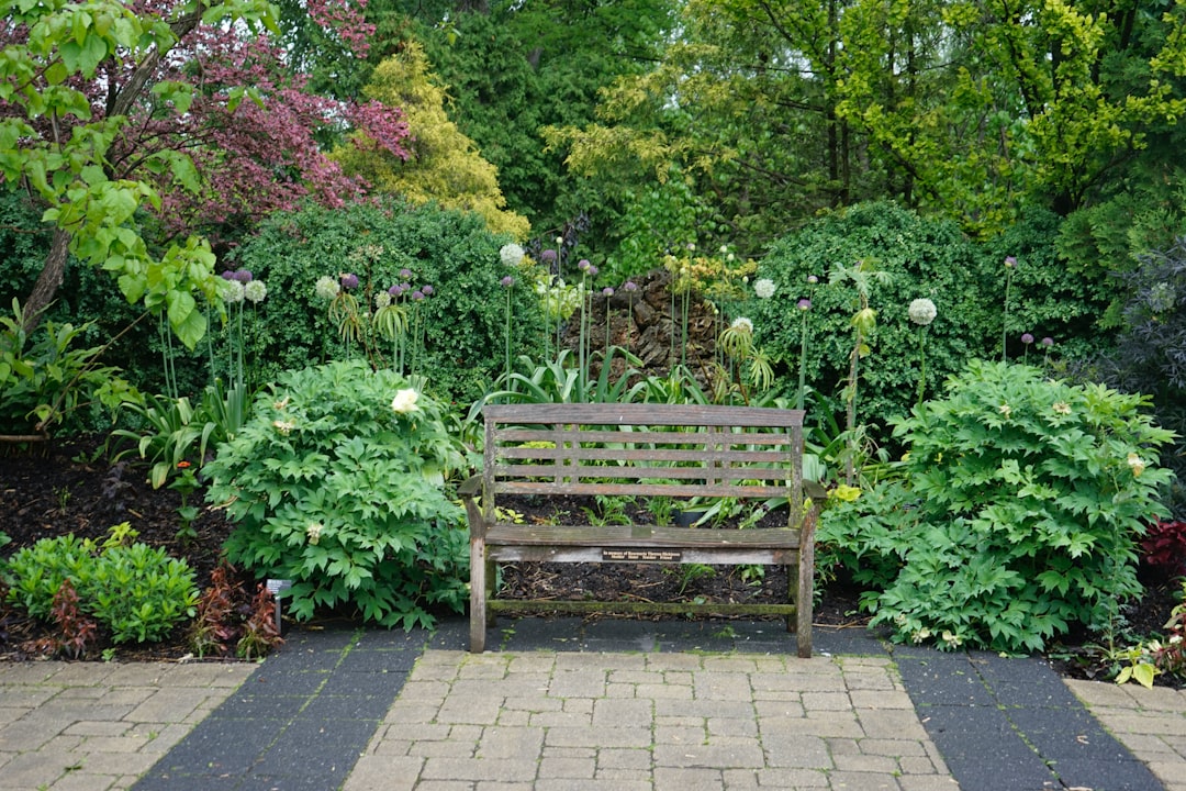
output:
[[[803, 498], [803, 412], [674, 404], [490, 404], [480, 476], [460, 493], [470, 522], [470, 650], [497, 612], [713, 613], [786, 618], [811, 656], [817, 509]], [[785, 528], [538, 525], [500, 521], [499, 496], [786, 498]], [[779, 604], [528, 601], [495, 597], [514, 561], [782, 564]]]

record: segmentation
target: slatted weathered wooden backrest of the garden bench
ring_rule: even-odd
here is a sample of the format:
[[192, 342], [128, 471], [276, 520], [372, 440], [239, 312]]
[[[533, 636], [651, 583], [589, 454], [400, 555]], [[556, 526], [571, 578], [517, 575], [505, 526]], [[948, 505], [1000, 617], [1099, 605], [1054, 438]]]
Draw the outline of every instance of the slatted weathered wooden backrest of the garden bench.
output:
[[786, 497], [791, 515], [802, 510], [798, 409], [547, 403], [482, 412], [487, 522], [499, 493]]

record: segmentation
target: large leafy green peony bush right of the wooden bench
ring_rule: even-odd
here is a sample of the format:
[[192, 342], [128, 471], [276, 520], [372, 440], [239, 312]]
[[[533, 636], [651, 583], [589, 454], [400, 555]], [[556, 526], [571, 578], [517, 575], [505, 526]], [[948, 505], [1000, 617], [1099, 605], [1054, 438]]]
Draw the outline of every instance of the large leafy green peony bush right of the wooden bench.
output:
[[868, 581], [886, 587], [862, 604], [900, 640], [1031, 651], [1073, 624], [1108, 627], [1140, 593], [1137, 542], [1166, 513], [1156, 458], [1172, 433], [1146, 406], [974, 362], [897, 421], [903, 481], [825, 511], [820, 541], [852, 567], [873, 557]]

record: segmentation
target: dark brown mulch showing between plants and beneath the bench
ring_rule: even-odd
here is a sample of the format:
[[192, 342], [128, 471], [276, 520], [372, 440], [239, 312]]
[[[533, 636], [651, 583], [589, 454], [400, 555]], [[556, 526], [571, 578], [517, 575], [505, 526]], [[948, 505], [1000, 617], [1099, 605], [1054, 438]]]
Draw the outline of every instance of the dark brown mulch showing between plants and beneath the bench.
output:
[[[134, 455], [134, 454], [133, 454]], [[0, 446], [0, 532], [12, 543], [0, 548], [0, 556], [44, 537], [74, 532], [78, 537], [102, 540], [108, 530], [128, 522], [139, 531], [138, 541], [164, 547], [171, 555], [184, 557], [197, 572], [198, 585], [205, 588], [218, 564], [219, 548], [230, 531], [217, 510], [205, 506], [200, 492], [190, 503], [200, 505], [193, 521], [196, 537], [179, 537], [181, 523], [177, 510], [181, 497], [170, 489], [153, 490], [146, 481], [144, 465], [130, 461], [110, 464], [102, 438], [56, 440], [33, 447]], [[530, 500], [506, 503], [524, 519], [546, 518], [544, 505]], [[547, 518], [581, 521], [591, 500], [572, 499], [553, 503]], [[627, 508], [633, 521], [653, 521], [645, 509]], [[785, 519], [772, 512], [766, 519]], [[248, 593], [251, 580], [238, 580]], [[760, 576], [747, 575], [735, 567], [689, 570], [688, 567], [659, 564], [553, 566], [523, 563], [503, 570], [509, 595], [530, 598], [633, 598], [655, 601], [782, 601], [786, 595], [786, 573], [767, 568]], [[1166, 576], [1147, 574], [1144, 598], [1126, 608], [1130, 631], [1135, 634], [1160, 632], [1169, 618], [1180, 587]], [[830, 626], [863, 627], [867, 618], [857, 612], [857, 594], [843, 580], [830, 580], [823, 587], [816, 606], [816, 623]], [[0, 659], [27, 658], [20, 645], [46, 633], [44, 624], [23, 618], [11, 608], [0, 608]], [[1071, 636], [1052, 653], [1053, 664], [1066, 675], [1092, 677], [1098, 663], [1084, 650], [1089, 636]], [[88, 658], [101, 657], [101, 642]], [[158, 644], [114, 646], [125, 662], [178, 659], [191, 653], [184, 630]]]

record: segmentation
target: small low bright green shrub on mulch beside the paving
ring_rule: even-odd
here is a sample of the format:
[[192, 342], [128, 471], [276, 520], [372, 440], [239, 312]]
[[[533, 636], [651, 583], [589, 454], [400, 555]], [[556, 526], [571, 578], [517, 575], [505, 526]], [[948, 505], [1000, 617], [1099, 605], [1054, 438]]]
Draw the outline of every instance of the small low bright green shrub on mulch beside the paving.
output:
[[94, 541], [72, 535], [42, 538], [18, 550], [6, 567], [9, 593], [34, 618], [49, 618], [65, 580], [79, 608], [110, 630], [113, 643], [155, 643], [198, 602], [193, 570], [184, 560], [145, 543]]

